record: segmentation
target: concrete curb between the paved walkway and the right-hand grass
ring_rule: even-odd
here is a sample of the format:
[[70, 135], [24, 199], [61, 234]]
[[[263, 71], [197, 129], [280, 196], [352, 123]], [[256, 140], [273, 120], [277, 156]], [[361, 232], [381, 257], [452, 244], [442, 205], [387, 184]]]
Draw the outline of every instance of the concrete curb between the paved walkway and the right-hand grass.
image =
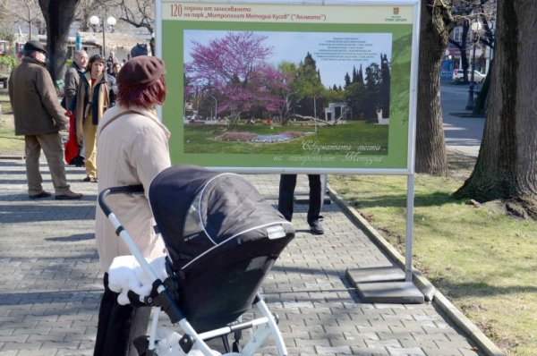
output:
[[[337, 206], [341, 208], [345, 215], [349, 216], [353, 222], [360, 226], [362, 230], [369, 235], [371, 240], [375, 242], [388, 257], [396, 261], [399, 267], [405, 269], [405, 258], [397, 251], [382, 235], [371, 226], [367, 220], [363, 218], [356, 209], [350, 207], [345, 199], [341, 197], [337, 191], [334, 191], [328, 186], [330, 198], [334, 199]], [[477, 345], [480, 352], [487, 356], [505, 356], [504, 352], [499, 350], [498, 346], [490, 341], [490, 339], [482, 333], [482, 331], [473, 324], [470, 319], [453, 305], [447, 298], [439, 292], [430, 281], [422, 275], [422, 272], [413, 268], [413, 283], [423, 293], [426, 301], [431, 301], [439, 307], [447, 318], [449, 318], [456, 326], [465, 332], [466, 335]]]

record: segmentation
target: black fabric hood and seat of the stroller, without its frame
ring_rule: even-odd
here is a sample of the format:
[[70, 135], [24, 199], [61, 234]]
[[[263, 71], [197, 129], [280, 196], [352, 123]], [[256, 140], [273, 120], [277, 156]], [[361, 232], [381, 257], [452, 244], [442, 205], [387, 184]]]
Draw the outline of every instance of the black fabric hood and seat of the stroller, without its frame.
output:
[[251, 308], [293, 225], [238, 174], [172, 166], [149, 187], [177, 302], [197, 330], [225, 326]]

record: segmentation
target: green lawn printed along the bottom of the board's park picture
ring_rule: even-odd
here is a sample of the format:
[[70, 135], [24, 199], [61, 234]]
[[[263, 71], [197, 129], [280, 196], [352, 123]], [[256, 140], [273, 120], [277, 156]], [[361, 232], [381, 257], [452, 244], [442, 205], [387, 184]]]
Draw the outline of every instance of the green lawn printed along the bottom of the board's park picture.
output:
[[[260, 153], [260, 154], [300, 154], [303, 153], [303, 140], [315, 140], [320, 145], [349, 145], [360, 142], [363, 146], [379, 146], [377, 151], [368, 151], [370, 155], [386, 155], [388, 152], [388, 125], [364, 122], [347, 122], [336, 126], [318, 126], [315, 133], [313, 125], [281, 126], [257, 123], [255, 125], [239, 124], [235, 128], [226, 125], [190, 124], [184, 126], [185, 153]], [[243, 141], [225, 141], [216, 138], [226, 132], [252, 132], [272, 135], [285, 131], [310, 132], [306, 136], [284, 142], [255, 143]], [[329, 151], [324, 151], [328, 153]], [[337, 151], [335, 151], [336, 153]], [[340, 152], [337, 152], [340, 153]]]

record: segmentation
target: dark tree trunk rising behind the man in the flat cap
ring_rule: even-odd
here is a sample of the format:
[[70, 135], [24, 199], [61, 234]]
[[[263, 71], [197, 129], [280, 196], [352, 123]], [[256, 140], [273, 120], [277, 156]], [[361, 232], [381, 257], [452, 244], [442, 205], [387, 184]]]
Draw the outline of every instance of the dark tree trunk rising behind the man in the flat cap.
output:
[[53, 81], [64, 79], [69, 28], [79, 1], [39, 0], [47, 22], [47, 68]]

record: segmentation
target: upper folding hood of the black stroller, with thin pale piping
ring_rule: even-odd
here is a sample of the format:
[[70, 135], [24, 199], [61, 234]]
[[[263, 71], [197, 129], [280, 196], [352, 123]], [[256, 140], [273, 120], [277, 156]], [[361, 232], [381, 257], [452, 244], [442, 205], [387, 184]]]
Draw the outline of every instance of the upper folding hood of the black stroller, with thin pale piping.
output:
[[[234, 237], [238, 243], [258, 238], [259, 233], [247, 232], [285, 220], [240, 175], [194, 165], [172, 166], [158, 174], [149, 187], [149, 201], [172, 258], [194, 259]], [[192, 216], [198, 219], [189, 223], [196, 226], [185, 226]]]

